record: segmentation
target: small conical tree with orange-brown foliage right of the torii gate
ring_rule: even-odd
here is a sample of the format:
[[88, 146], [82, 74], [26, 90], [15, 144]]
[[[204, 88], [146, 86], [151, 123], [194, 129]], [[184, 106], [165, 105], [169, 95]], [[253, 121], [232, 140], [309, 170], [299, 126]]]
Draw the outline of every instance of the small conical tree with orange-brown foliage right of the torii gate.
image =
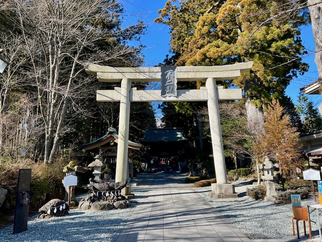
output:
[[[290, 116], [276, 99], [264, 112], [264, 132], [260, 134], [253, 151], [259, 157], [276, 160], [283, 178], [296, 174], [296, 167], [301, 166], [299, 133], [290, 124]], [[283, 179], [282, 179], [283, 180]]]

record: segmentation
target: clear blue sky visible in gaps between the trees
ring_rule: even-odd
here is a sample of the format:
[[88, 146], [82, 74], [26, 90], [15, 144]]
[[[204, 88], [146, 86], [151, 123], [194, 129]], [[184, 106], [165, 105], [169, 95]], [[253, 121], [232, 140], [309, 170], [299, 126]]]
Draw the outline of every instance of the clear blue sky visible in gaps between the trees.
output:
[[[163, 9], [166, 2], [167, 0], [127, 0], [123, 2], [126, 6], [126, 21], [133, 23], [133, 21], [142, 20], [148, 26], [146, 35], [142, 36], [142, 44], [146, 46], [143, 50], [145, 67], [153, 67], [158, 63], [162, 63], [166, 55], [169, 54], [169, 29], [161, 24], [153, 24], [153, 20], [158, 17], [157, 11]], [[314, 51], [311, 26], [302, 28], [301, 39], [308, 52]], [[297, 102], [300, 88], [314, 82], [318, 78], [314, 57], [314, 54], [310, 54], [303, 58], [303, 61], [310, 66], [309, 71], [304, 76], [299, 76], [292, 80], [286, 89], [286, 94], [291, 97], [294, 103]], [[309, 96], [316, 106], [321, 103], [321, 95]]]

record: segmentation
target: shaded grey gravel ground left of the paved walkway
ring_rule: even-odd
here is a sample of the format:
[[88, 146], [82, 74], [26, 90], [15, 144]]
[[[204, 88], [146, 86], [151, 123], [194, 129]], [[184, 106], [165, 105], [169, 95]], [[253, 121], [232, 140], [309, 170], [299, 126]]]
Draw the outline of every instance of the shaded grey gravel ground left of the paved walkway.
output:
[[[12, 234], [13, 225], [1, 229], [0, 241], [116, 241], [139, 202], [141, 194], [143, 193], [139, 189], [135, 191], [138, 199], [131, 200], [131, 207], [127, 209], [109, 211], [70, 209], [68, 216], [49, 219], [37, 219], [37, 214], [29, 219], [27, 231]], [[87, 195], [78, 196], [77, 200], [80, 201]]]

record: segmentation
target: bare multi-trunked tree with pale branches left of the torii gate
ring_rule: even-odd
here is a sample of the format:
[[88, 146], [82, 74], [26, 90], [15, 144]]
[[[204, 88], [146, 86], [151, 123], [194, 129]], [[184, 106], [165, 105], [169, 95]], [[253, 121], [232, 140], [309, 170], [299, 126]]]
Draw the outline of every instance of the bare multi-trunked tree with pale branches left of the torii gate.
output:
[[[6, 10], [19, 28], [27, 49], [30, 89], [45, 127], [44, 161], [52, 162], [64, 127], [68, 107], [87, 98], [93, 77], [85, 63], [138, 65], [139, 47], [128, 41], [142, 31], [142, 24], [122, 29], [121, 6], [114, 0], [47, 1], [13, 0]], [[81, 108], [81, 107], [78, 107]]]

